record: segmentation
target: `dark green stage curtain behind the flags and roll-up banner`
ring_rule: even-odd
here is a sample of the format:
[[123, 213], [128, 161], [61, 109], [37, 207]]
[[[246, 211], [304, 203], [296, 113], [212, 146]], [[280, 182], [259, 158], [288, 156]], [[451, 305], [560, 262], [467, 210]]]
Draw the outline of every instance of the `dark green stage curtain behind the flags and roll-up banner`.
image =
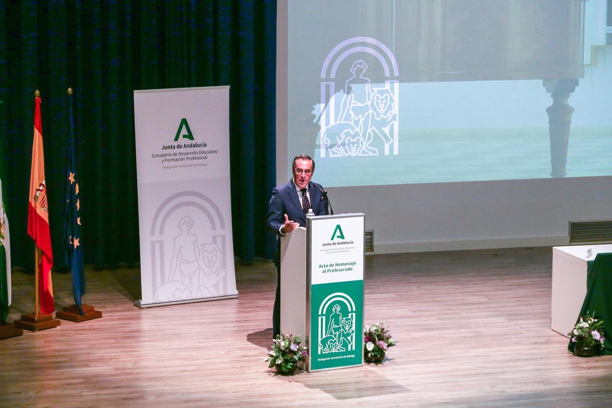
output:
[[13, 265], [34, 263], [26, 224], [39, 89], [54, 261], [65, 267], [69, 86], [86, 264], [140, 259], [133, 90], [221, 85], [231, 87], [234, 252], [245, 261], [272, 257], [275, 1], [0, 1], [0, 170]]

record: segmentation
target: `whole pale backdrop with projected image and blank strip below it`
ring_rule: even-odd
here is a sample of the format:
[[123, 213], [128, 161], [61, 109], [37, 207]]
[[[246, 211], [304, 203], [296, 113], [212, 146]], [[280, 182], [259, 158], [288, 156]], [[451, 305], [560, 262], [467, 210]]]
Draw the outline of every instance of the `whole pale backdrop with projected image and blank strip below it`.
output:
[[566, 243], [568, 221], [610, 218], [605, 13], [606, 0], [279, 1], [278, 182], [311, 155], [389, 251]]

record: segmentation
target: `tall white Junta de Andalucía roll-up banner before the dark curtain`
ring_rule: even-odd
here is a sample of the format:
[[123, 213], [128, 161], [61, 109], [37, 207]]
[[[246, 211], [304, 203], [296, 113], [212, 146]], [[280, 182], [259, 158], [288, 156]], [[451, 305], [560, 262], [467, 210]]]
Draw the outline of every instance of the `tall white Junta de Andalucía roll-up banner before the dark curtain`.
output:
[[134, 91], [140, 278], [135, 306], [237, 297], [230, 87]]

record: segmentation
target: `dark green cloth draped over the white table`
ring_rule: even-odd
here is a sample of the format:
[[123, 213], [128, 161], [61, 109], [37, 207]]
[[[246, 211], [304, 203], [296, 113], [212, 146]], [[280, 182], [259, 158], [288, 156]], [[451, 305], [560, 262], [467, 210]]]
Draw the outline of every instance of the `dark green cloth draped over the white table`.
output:
[[[586, 295], [580, 316], [587, 313], [595, 313], [595, 318], [603, 320], [605, 341], [602, 354], [612, 354], [612, 253], [599, 253], [588, 262]], [[570, 341], [567, 345], [569, 351], [573, 351], [573, 346]]]

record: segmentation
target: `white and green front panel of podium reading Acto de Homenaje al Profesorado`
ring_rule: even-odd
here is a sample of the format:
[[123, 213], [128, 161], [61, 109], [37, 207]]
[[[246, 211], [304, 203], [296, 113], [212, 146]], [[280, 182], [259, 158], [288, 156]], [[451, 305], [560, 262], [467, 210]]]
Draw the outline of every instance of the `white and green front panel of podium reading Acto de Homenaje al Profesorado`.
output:
[[308, 371], [363, 363], [364, 214], [307, 220]]

